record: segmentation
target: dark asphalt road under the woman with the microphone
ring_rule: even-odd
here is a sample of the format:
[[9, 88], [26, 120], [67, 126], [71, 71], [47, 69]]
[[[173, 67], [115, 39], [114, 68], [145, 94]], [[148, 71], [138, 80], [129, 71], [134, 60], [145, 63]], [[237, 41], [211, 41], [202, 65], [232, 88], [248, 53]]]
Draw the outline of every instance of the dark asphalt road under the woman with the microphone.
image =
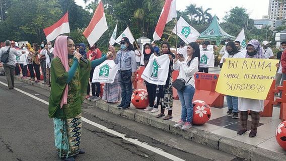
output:
[[[0, 76], [0, 82], [7, 83], [5, 76]], [[19, 81], [15, 86], [48, 101], [49, 91]], [[243, 160], [87, 104], [82, 107], [84, 118], [183, 160]], [[81, 148], [86, 153], [76, 156], [76, 160], [172, 160], [86, 122], [83, 122]], [[54, 148], [53, 121], [48, 118], [47, 104], [8, 90], [3, 84], [0, 84], [0, 160], [61, 160]]]

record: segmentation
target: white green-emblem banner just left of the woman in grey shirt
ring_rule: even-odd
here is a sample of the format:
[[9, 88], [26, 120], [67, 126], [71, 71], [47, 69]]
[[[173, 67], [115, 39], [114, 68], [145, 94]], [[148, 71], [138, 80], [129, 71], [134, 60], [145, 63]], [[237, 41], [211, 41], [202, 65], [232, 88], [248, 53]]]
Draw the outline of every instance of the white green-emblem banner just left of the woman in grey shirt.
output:
[[100, 82], [112, 84], [117, 72], [117, 64], [115, 64], [113, 60], [105, 60], [94, 69], [92, 83]]

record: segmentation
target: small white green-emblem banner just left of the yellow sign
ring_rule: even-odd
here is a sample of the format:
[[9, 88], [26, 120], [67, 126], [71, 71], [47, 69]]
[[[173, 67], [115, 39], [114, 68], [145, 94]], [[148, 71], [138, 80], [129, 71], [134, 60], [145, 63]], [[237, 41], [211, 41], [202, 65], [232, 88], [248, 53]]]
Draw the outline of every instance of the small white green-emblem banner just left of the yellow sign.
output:
[[200, 51], [199, 67], [215, 67], [213, 51]]

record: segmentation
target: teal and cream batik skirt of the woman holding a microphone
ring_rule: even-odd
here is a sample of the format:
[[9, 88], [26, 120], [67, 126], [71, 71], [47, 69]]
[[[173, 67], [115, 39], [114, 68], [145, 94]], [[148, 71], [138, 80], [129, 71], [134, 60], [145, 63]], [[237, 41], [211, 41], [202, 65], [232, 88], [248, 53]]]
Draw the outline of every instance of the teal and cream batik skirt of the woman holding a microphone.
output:
[[55, 148], [60, 158], [79, 154], [82, 136], [82, 114], [72, 119], [54, 118]]

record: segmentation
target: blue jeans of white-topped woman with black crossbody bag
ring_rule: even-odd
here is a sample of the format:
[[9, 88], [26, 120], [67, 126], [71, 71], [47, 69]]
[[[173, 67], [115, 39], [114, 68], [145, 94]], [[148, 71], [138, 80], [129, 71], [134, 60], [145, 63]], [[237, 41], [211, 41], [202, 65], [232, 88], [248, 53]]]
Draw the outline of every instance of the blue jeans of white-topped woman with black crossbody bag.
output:
[[186, 86], [185, 90], [178, 91], [178, 96], [182, 105], [181, 120], [184, 122], [193, 121], [193, 97], [195, 88], [192, 85]]

